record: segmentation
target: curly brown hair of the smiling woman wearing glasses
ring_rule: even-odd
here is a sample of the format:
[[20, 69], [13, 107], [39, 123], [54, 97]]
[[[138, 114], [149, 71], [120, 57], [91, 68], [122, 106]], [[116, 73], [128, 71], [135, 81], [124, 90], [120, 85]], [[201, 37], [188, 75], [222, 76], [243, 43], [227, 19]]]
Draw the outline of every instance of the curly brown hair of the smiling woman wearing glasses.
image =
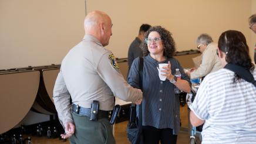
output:
[[[176, 47], [173, 37], [171, 37], [171, 33], [168, 30], [162, 28], [161, 26], [153, 26], [146, 32], [145, 38], [149, 37], [150, 32], [159, 33], [161, 42], [163, 43], [164, 47], [163, 55], [166, 57], [173, 57], [176, 51]], [[141, 47], [143, 51], [143, 56], [147, 56], [147, 54], [149, 54], [149, 50], [147, 48], [147, 43], [145, 42], [145, 40], [143, 40]]]

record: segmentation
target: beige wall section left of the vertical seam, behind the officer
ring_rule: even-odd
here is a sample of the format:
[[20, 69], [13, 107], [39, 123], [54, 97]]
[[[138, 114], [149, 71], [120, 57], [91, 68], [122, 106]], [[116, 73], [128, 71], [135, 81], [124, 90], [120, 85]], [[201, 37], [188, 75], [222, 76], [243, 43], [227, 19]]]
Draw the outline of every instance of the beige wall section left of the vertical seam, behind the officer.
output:
[[84, 0], [0, 0], [0, 69], [59, 64], [84, 18]]

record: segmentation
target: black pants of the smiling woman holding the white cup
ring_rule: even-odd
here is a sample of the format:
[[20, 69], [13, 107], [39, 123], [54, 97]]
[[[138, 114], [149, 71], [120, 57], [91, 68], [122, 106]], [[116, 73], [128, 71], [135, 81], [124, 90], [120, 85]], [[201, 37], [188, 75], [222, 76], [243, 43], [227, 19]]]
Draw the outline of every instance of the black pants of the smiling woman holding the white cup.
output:
[[144, 143], [147, 144], [175, 144], [177, 135], [173, 135], [173, 129], [157, 129], [153, 126], [143, 126]]

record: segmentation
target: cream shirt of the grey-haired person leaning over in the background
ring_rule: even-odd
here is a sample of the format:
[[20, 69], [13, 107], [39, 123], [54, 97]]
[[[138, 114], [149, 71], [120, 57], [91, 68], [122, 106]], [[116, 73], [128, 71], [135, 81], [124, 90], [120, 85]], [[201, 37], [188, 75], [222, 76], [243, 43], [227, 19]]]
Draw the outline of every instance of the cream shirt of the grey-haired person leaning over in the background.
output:
[[202, 63], [190, 74], [190, 78], [200, 78], [222, 68], [220, 59], [217, 56], [217, 44], [210, 43], [202, 53]]

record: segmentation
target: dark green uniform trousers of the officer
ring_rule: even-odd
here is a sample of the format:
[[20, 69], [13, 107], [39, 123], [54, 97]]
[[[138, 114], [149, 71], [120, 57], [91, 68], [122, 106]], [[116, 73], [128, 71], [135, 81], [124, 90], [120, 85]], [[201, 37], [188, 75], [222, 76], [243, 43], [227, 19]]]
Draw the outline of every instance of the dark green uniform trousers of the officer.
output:
[[114, 144], [112, 127], [107, 118], [99, 118], [97, 122], [89, 117], [79, 116], [72, 112], [76, 126], [75, 134], [70, 137], [71, 144]]

